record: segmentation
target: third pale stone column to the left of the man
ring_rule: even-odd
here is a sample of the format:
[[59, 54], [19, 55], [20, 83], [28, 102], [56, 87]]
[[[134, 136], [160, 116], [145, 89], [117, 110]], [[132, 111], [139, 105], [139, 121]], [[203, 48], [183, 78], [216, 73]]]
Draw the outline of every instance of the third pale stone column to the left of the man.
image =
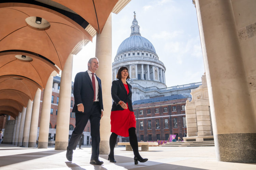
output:
[[33, 101], [30, 132], [29, 132], [29, 141], [28, 141], [29, 148], [35, 148], [37, 146], [37, 131], [38, 131], [40, 98], [41, 98], [41, 90], [38, 88], [37, 92], [35, 93], [35, 97], [34, 97], [34, 101]]

